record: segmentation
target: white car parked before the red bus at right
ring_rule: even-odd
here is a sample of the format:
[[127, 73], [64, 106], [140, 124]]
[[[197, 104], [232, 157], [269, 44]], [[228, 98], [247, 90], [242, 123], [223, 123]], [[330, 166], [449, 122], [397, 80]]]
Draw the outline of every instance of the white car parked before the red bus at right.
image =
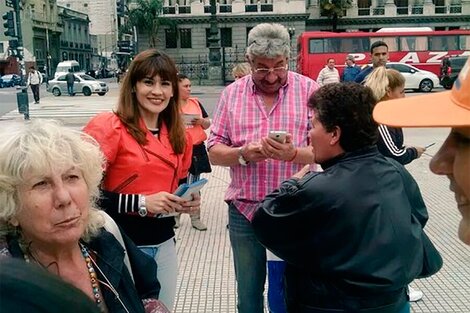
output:
[[439, 86], [439, 77], [436, 74], [421, 70], [413, 65], [387, 62], [387, 68], [393, 68], [405, 77], [405, 89], [430, 92], [434, 87]]

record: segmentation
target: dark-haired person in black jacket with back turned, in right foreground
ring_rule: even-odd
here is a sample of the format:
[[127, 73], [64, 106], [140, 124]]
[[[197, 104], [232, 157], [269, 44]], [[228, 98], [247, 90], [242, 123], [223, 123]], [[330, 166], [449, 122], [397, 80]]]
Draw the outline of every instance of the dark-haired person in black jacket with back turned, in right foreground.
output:
[[[323, 172], [304, 167], [255, 213], [257, 238], [287, 262], [289, 312], [410, 312], [406, 286], [442, 266], [418, 185], [377, 149], [375, 103], [356, 83], [320, 88], [309, 135]], [[439, 261], [426, 273], [425, 248]]]

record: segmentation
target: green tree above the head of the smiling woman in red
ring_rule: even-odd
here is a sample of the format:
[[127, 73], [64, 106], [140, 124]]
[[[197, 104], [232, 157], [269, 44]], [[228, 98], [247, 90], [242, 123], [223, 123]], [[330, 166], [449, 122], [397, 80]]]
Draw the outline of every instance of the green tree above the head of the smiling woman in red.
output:
[[163, 25], [176, 27], [174, 20], [163, 16], [162, 0], [136, 0], [129, 10], [127, 22], [119, 31], [131, 34], [135, 26], [139, 32], [147, 35], [149, 48], [155, 48], [159, 41], [158, 31]]

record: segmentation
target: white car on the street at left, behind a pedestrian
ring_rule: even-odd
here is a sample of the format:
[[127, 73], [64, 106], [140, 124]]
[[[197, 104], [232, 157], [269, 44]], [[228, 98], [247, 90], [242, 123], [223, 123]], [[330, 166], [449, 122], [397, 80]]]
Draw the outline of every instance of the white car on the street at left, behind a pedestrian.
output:
[[[105, 82], [96, 80], [89, 75], [74, 74], [74, 76], [74, 93], [83, 93], [85, 96], [91, 96], [93, 93], [97, 93], [100, 96], [104, 96], [109, 91], [109, 87]], [[47, 91], [52, 92], [56, 97], [61, 94], [68, 94], [65, 75], [60, 75], [59, 77], [50, 80]]]

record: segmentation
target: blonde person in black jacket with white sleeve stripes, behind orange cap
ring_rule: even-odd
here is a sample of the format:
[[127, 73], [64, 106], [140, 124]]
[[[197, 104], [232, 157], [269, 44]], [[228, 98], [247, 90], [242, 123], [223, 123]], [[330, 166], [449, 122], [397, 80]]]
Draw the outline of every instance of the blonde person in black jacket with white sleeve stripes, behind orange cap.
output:
[[[394, 69], [376, 68], [366, 79], [365, 86], [372, 89], [377, 101], [405, 97], [405, 77]], [[405, 165], [419, 158], [426, 150], [423, 147], [407, 147], [403, 141], [403, 130], [399, 127], [379, 125], [377, 146], [380, 153]]]

